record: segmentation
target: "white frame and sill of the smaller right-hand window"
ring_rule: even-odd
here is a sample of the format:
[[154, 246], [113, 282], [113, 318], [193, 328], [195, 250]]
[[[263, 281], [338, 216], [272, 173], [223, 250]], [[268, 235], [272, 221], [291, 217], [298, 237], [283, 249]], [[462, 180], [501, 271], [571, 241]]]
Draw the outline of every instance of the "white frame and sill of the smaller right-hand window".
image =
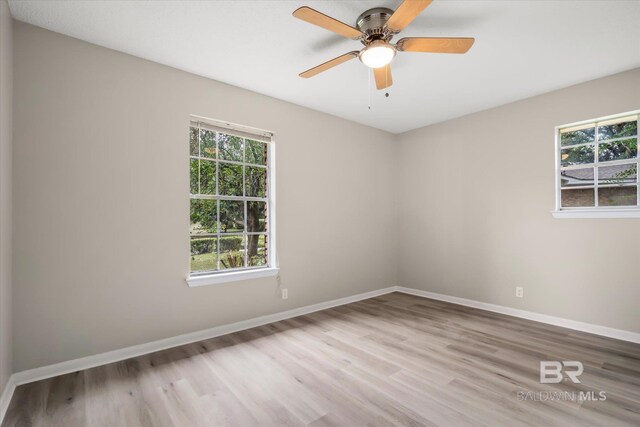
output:
[[[619, 118], [623, 118], [626, 116], [638, 116], [636, 118], [636, 120], [640, 121], [640, 110], [635, 110], [635, 111], [629, 111], [626, 113], [620, 113], [620, 114], [614, 114], [611, 116], [606, 116], [606, 117], [599, 117], [597, 119], [590, 119], [590, 120], [583, 120], [580, 122], [575, 122], [575, 123], [569, 123], [566, 125], [561, 125], [561, 126], [556, 126], [555, 127], [555, 186], [556, 186], [556, 201], [555, 201], [555, 210], [552, 211], [551, 213], [553, 214], [554, 218], [640, 218], [640, 181], [638, 180], [638, 178], [640, 178], [640, 152], [638, 153], [638, 157], [636, 157], [635, 160], [632, 159], [624, 159], [624, 160], [612, 160], [612, 161], [607, 161], [606, 162], [606, 166], [614, 166], [614, 165], [625, 165], [625, 164], [636, 164], [636, 190], [638, 192], [637, 194], [637, 205], [636, 206], [598, 206], [598, 188], [604, 188], [604, 187], [612, 187], [613, 185], [606, 185], [603, 186], [601, 184], [598, 183], [598, 167], [599, 166], [605, 166], [603, 164], [601, 164], [598, 160], [598, 151], [599, 151], [599, 143], [600, 141], [598, 141], [598, 123], [599, 122], [605, 122], [605, 121], [610, 121], [610, 120], [615, 120], [615, 119], [619, 119]], [[562, 166], [562, 159], [561, 159], [561, 150], [563, 148], [567, 148], [567, 147], [562, 147], [561, 146], [561, 140], [560, 140], [560, 132], [563, 129], [566, 128], [570, 128], [570, 127], [577, 127], [577, 126], [582, 126], [582, 125], [587, 125], [587, 124], [591, 124], [593, 123], [596, 129], [596, 135], [594, 138], [594, 163], [589, 163], [589, 164], [584, 164], [584, 165], [576, 165], [576, 166], [569, 166], [569, 167], [563, 167]], [[638, 130], [640, 131], [640, 123], [638, 123]], [[636, 132], [636, 142], [640, 142], [639, 136], [638, 136], [639, 132]], [[628, 139], [628, 138], [633, 138], [633, 136], [630, 137], [622, 137], [621, 139]], [[617, 141], [618, 139], [611, 139], [611, 141]], [[579, 144], [576, 146], [580, 146]], [[593, 185], [587, 185], [587, 186], [578, 186], [578, 187], [570, 187], [571, 189], [580, 189], [580, 188], [594, 188], [594, 204], [595, 206], [592, 207], [562, 207], [561, 206], [561, 194], [562, 194], [562, 178], [561, 178], [561, 172], [563, 170], [570, 170], [572, 168], [583, 168], [583, 167], [589, 167], [592, 166], [594, 169], [594, 176], [593, 176], [593, 180], [594, 183]], [[633, 185], [633, 184], [631, 184]], [[566, 189], [566, 188], [565, 188]]]

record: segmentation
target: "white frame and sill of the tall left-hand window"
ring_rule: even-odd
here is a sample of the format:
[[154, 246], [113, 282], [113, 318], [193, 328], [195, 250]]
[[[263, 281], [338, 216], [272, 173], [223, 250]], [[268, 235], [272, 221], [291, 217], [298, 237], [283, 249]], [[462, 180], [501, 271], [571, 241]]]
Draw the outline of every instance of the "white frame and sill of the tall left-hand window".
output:
[[[220, 270], [215, 272], [204, 272], [204, 273], [191, 273], [191, 267], [189, 267], [189, 273], [187, 275], [186, 281], [189, 287], [198, 287], [198, 286], [206, 286], [206, 285], [214, 285], [228, 282], [235, 282], [239, 280], [248, 280], [248, 279], [257, 279], [261, 277], [272, 277], [277, 276], [279, 273], [278, 267], [278, 258], [276, 254], [276, 177], [275, 177], [275, 138], [273, 132], [251, 128], [248, 126], [242, 126], [234, 123], [223, 122], [214, 119], [208, 119], [201, 116], [190, 116], [189, 127], [193, 125], [193, 123], [199, 123], [207, 128], [215, 128], [217, 132], [226, 133], [229, 135], [235, 135], [242, 138], [255, 139], [259, 141], [263, 141], [267, 144], [268, 152], [267, 152], [267, 265], [262, 267], [243, 267], [239, 269], [233, 270]], [[218, 138], [216, 138], [216, 147], [218, 144]], [[191, 155], [189, 155], [191, 158]], [[223, 161], [224, 162], [224, 161]], [[244, 165], [245, 160], [243, 159], [242, 164]], [[233, 163], [233, 162], [232, 162]], [[219, 165], [219, 162], [216, 162]], [[244, 166], [243, 166], [244, 167]], [[219, 167], [216, 167], [216, 175], [219, 173]], [[244, 180], [244, 178], [243, 178]], [[218, 185], [218, 178], [216, 176], [216, 186]], [[244, 192], [243, 185], [243, 192]], [[217, 193], [217, 191], [216, 191]], [[206, 197], [215, 200], [221, 199], [234, 199], [234, 200], [249, 200], [252, 199], [248, 196], [219, 196], [216, 194], [215, 196]], [[188, 193], [188, 202], [191, 203], [191, 194], [190, 191]], [[218, 216], [219, 216], [218, 212]], [[219, 219], [219, 218], [218, 218]], [[246, 225], [246, 206], [245, 206], [245, 226], [243, 230], [243, 236], [247, 237], [247, 225]], [[189, 220], [189, 224], [191, 221]], [[218, 237], [220, 237], [220, 230], [218, 230]], [[189, 240], [191, 237], [189, 235], [189, 231], [187, 230], [187, 235], [189, 236]], [[189, 245], [190, 247], [190, 245]], [[218, 247], [218, 259], [220, 256], [220, 247], [219, 243]], [[246, 248], [245, 248], [246, 251]], [[191, 251], [189, 250], [189, 254]], [[246, 254], [245, 254], [246, 257]], [[219, 262], [219, 261], [218, 261]]]

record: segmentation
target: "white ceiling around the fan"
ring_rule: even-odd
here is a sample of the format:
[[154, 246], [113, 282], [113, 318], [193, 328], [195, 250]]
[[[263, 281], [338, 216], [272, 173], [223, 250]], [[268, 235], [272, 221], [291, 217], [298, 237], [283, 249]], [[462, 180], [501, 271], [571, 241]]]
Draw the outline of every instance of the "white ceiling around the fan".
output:
[[400, 37], [476, 43], [466, 55], [399, 53], [388, 98], [358, 60], [298, 77], [361, 45], [291, 12], [308, 5], [353, 25], [400, 0], [9, 3], [21, 21], [393, 133], [640, 66], [637, 0], [436, 0]]

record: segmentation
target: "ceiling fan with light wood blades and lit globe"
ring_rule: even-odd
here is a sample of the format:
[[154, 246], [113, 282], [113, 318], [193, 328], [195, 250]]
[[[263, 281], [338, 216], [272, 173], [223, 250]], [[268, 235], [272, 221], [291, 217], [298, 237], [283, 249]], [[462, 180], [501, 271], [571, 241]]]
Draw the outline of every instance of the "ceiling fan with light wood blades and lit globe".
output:
[[363, 12], [352, 27], [317, 10], [303, 6], [293, 16], [303, 21], [333, 31], [343, 37], [359, 40], [364, 48], [354, 50], [300, 73], [309, 78], [327, 71], [353, 58], [358, 58], [367, 67], [373, 68], [376, 87], [385, 89], [393, 84], [391, 61], [397, 52], [466, 53], [475, 39], [442, 37], [406, 37], [396, 44], [391, 39], [411, 23], [432, 0], [404, 0], [395, 10], [375, 7]]

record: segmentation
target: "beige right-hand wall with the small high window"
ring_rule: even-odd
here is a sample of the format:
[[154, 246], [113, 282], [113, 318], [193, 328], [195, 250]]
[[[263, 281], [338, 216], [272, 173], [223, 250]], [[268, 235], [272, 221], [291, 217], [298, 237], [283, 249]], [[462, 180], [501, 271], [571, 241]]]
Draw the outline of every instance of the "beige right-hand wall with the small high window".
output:
[[638, 108], [635, 69], [401, 135], [399, 283], [640, 332], [640, 221], [550, 214], [554, 126]]

